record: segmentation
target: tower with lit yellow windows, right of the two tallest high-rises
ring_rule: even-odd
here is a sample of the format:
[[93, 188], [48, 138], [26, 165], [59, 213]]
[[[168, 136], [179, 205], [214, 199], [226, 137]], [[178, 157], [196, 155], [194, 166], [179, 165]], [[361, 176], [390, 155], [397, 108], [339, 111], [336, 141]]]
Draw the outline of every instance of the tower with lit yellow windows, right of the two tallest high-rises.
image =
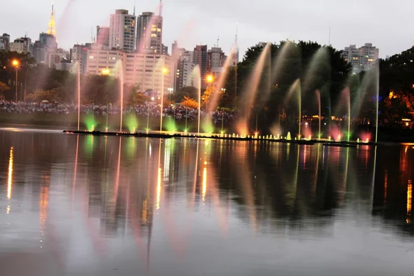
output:
[[153, 12], [143, 12], [137, 19], [137, 52], [155, 53], [162, 49], [162, 21], [161, 16]]

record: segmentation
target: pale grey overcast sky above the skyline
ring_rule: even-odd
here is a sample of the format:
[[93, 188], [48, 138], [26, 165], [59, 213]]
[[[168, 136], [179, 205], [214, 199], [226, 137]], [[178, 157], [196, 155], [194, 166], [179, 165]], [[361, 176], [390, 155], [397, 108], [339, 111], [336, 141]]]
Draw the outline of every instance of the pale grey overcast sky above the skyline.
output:
[[[229, 52], [239, 29], [240, 58], [259, 41], [312, 40], [342, 49], [366, 42], [380, 48], [380, 57], [410, 48], [414, 40], [413, 0], [164, 0], [164, 44], [193, 49], [196, 44]], [[155, 11], [159, 0], [136, 0], [137, 14]], [[46, 32], [50, 0], [5, 0], [0, 32], [14, 40], [33, 40]], [[116, 9], [132, 14], [134, 0], [55, 0], [57, 39], [61, 48], [90, 41], [91, 28], [108, 26]]]

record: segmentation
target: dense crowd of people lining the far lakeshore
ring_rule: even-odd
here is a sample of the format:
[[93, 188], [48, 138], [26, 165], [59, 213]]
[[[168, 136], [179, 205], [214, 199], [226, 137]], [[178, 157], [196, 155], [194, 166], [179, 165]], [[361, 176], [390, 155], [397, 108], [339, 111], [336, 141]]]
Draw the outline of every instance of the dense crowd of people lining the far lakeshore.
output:
[[[94, 115], [118, 115], [121, 107], [113, 104], [108, 106], [97, 106], [93, 104], [81, 105], [81, 113], [83, 114], [94, 114]], [[137, 106], [126, 106], [123, 108], [124, 115], [134, 114], [143, 117], [160, 117], [161, 107], [157, 104], [142, 104]], [[176, 120], [193, 120], [198, 119], [197, 108], [187, 108], [186, 106], [168, 105], [163, 107], [163, 116], [174, 118]], [[70, 113], [77, 113], [78, 106], [71, 103], [50, 103], [48, 101], [42, 101], [41, 103], [28, 103], [28, 102], [13, 102], [13, 101], [0, 101], [0, 112], [7, 113], [47, 113], [53, 115], [68, 115]], [[237, 119], [235, 112], [226, 110], [216, 110], [213, 112], [206, 112], [201, 110], [200, 117], [210, 116], [215, 124], [221, 121], [230, 122]]]

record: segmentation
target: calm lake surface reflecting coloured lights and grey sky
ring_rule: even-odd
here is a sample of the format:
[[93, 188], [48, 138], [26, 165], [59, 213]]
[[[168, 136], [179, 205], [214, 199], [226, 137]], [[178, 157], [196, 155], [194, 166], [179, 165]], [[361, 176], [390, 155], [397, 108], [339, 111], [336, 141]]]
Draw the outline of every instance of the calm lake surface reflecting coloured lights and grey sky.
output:
[[0, 130], [0, 275], [413, 275], [413, 157]]

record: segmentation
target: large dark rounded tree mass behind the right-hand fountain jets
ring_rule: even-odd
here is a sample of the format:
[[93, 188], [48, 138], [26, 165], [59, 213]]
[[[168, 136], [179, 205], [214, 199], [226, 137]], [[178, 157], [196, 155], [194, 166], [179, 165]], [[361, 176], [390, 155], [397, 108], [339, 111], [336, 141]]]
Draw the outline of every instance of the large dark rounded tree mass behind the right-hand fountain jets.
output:
[[[250, 84], [250, 76], [257, 70], [255, 66], [263, 50], [262, 45], [249, 48], [237, 69], [230, 70], [224, 87], [226, 94], [219, 102], [220, 106], [240, 106]], [[339, 101], [352, 69], [342, 59], [339, 51], [312, 41], [282, 41], [270, 44], [263, 66], [254, 102], [259, 104], [259, 123], [264, 128], [275, 122], [282, 108], [288, 117], [297, 117], [297, 98], [286, 103], [286, 95], [297, 79], [300, 80], [299, 88], [302, 91], [302, 114], [314, 115], [317, 112], [315, 90], [321, 90], [324, 107], [322, 115], [326, 115], [328, 107], [335, 106]], [[244, 110], [239, 112], [244, 113]], [[250, 126], [254, 124], [253, 121], [250, 123]]]

